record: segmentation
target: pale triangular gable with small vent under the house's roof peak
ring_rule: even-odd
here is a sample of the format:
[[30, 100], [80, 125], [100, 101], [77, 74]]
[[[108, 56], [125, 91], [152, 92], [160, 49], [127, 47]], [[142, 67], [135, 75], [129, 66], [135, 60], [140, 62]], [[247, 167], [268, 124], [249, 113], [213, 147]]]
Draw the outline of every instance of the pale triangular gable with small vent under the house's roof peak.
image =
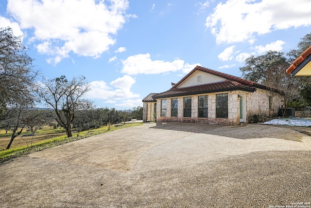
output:
[[211, 75], [200, 70], [195, 71], [189, 77], [187, 77], [176, 88], [190, 87], [195, 85], [209, 84], [214, 82], [225, 81], [226, 79], [220, 76]]

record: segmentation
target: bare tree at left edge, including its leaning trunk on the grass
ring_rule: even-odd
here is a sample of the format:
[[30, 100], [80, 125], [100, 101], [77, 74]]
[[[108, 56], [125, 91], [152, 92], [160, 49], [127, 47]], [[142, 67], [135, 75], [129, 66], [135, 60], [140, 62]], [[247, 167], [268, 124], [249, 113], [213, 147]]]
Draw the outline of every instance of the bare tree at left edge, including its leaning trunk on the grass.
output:
[[36, 101], [37, 72], [32, 69], [33, 59], [26, 49], [11, 28], [0, 28], [0, 128], [4, 125], [13, 132], [6, 149], [23, 130], [21, 117], [25, 109]]

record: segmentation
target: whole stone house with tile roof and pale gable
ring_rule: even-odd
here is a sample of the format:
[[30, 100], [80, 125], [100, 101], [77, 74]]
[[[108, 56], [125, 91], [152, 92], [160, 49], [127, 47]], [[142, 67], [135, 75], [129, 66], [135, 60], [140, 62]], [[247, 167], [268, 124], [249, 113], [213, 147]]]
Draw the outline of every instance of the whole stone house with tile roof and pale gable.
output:
[[278, 93], [264, 85], [196, 66], [172, 88], [149, 94], [143, 121], [239, 125], [255, 114], [277, 115]]

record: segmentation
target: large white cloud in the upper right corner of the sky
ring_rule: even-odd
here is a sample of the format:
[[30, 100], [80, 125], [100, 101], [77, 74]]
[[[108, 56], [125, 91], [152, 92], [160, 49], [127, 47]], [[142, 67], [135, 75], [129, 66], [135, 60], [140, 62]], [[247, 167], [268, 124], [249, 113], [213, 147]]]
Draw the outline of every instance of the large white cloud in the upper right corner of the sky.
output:
[[310, 8], [310, 0], [227, 0], [214, 8], [206, 27], [217, 43], [252, 42], [256, 34], [311, 25]]

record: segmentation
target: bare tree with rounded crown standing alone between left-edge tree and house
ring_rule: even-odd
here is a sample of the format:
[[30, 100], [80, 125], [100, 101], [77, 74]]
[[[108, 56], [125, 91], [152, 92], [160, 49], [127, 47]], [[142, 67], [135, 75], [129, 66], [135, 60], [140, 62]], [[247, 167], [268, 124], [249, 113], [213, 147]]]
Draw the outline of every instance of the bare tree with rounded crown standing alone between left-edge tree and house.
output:
[[55, 111], [55, 119], [66, 130], [67, 136], [72, 136], [72, 121], [75, 113], [85, 106], [92, 105], [83, 99], [83, 95], [89, 91], [89, 85], [84, 76], [73, 77], [71, 81], [66, 76], [43, 81], [44, 87], [40, 92], [43, 100]]

